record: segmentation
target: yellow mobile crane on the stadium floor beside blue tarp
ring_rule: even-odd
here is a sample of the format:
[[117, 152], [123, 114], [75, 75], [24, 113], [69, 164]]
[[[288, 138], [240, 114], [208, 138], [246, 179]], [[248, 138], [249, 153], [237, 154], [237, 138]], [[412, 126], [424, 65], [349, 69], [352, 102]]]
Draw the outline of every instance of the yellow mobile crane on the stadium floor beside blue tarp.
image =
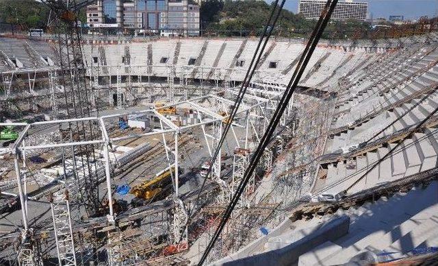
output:
[[[138, 207], [166, 197], [172, 188], [172, 173], [175, 173], [175, 167], [167, 167], [157, 173], [153, 180], [133, 186], [129, 193], [136, 197], [132, 199], [131, 205]], [[178, 173], [183, 173], [182, 169]]]

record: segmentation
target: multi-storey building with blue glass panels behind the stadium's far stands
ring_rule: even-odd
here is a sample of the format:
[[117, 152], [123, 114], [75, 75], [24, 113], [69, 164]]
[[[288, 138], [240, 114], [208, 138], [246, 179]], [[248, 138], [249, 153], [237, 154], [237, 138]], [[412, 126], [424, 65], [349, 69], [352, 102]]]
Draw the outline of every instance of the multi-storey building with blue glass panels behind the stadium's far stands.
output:
[[199, 5], [188, 0], [99, 0], [87, 7], [87, 23], [92, 28], [199, 36], [199, 21]]

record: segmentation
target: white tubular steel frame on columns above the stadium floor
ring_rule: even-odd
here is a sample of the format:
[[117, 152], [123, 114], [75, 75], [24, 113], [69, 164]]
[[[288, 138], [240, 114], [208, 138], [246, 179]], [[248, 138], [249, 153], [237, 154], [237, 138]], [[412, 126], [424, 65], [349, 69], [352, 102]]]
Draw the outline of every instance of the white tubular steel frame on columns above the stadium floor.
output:
[[[176, 125], [175, 123], [172, 123], [169, 119], [164, 117], [162, 114], [159, 114], [158, 110], [140, 110], [137, 112], [125, 112], [120, 114], [111, 114], [107, 116], [102, 117], [83, 117], [83, 118], [77, 118], [77, 119], [62, 119], [62, 120], [53, 120], [53, 121], [42, 121], [42, 122], [35, 122], [35, 123], [0, 123], [1, 126], [5, 125], [12, 125], [17, 128], [24, 128], [21, 130], [19, 137], [17, 141], [14, 143], [13, 147], [1, 147], [0, 152], [8, 152], [14, 156], [14, 162], [16, 165], [16, 180], [18, 184], [18, 190], [19, 190], [19, 198], [21, 199], [21, 206], [24, 206], [22, 208], [22, 217], [23, 217], [23, 226], [24, 226], [24, 232], [29, 232], [29, 226], [27, 224], [27, 213], [25, 210], [27, 209], [27, 193], [23, 189], [23, 179], [25, 176], [23, 173], [21, 173], [21, 167], [19, 166], [19, 162], [23, 160], [23, 157], [21, 156], [24, 152], [27, 151], [33, 151], [38, 149], [74, 149], [74, 147], [80, 147], [84, 145], [102, 145], [103, 146], [103, 155], [104, 160], [103, 163], [105, 165], [105, 177], [106, 177], [106, 184], [107, 184], [107, 191], [110, 193], [107, 193], [107, 201], [108, 201], [108, 211], [109, 214], [107, 215], [107, 222], [109, 224], [113, 224], [114, 221], [116, 221], [117, 217], [114, 216], [114, 210], [113, 210], [113, 204], [112, 204], [112, 193], [111, 193], [111, 187], [112, 187], [112, 176], [111, 176], [111, 170], [110, 170], [110, 160], [109, 160], [109, 149], [108, 146], [112, 145], [112, 143], [116, 141], [121, 141], [129, 138], [137, 138], [138, 136], [152, 136], [152, 135], [159, 135], [161, 134], [164, 136], [164, 134], [172, 134], [175, 138], [175, 146], [169, 147], [167, 144], [165, 144], [166, 154], [169, 156], [169, 163], [170, 165], [175, 165], [175, 173], [173, 177], [173, 181], [175, 182], [174, 186], [174, 195], [175, 195], [175, 208], [172, 211], [173, 213], [173, 219], [171, 221], [172, 225], [172, 242], [177, 245], [178, 250], [184, 250], [188, 247], [188, 214], [186, 211], [185, 203], [179, 199], [179, 175], [178, 175], [178, 143], [179, 139], [178, 136], [181, 134], [181, 132], [185, 132], [187, 130], [192, 130], [192, 128], [201, 128], [203, 129], [203, 134], [205, 137], [205, 141], [207, 143], [207, 147], [209, 147], [209, 152], [211, 154], [213, 153], [214, 149], [217, 147], [217, 141], [220, 138], [220, 134], [222, 134], [222, 124], [225, 123], [224, 121], [227, 121], [227, 118], [229, 117], [229, 114], [226, 114], [224, 116], [216, 113], [217, 110], [214, 107], [213, 110], [210, 108], [205, 108], [201, 105], [203, 101], [206, 99], [215, 99], [215, 101], [219, 101], [220, 105], [223, 106], [229, 106], [232, 103], [231, 99], [227, 99], [226, 97], [222, 97], [222, 95], [227, 94], [230, 97], [233, 97], [235, 90], [237, 88], [230, 88], [228, 90], [221, 90], [216, 93], [211, 93], [209, 95], [204, 95], [202, 97], [195, 97], [193, 99], [190, 99], [188, 101], [182, 101], [176, 104], [170, 104], [168, 106], [163, 106], [162, 108], [168, 108], [169, 106], [192, 106], [196, 112], [198, 112], [198, 117], [200, 118], [198, 123], [194, 123], [192, 125]], [[248, 95], [247, 97], [244, 97], [244, 103], [242, 104], [240, 110], [237, 112], [238, 116], [244, 115], [246, 117], [246, 121], [248, 121], [248, 114], [252, 112], [252, 110], [255, 110], [257, 108], [260, 108], [260, 106], [266, 105], [268, 101], [272, 101], [281, 95], [278, 93], [276, 95], [272, 94], [265, 94], [259, 92], [259, 101], [255, 102], [254, 97]], [[264, 100], [263, 100], [264, 99]], [[119, 136], [115, 138], [110, 138], [107, 134], [107, 129], [105, 125], [106, 119], [112, 119], [114, 117], [119, 117], [120, 115], [126, 115], [126, 114], [155, 114], [156, 117], [159, 118], [160, 123], [162, 124], [162, 128], [159, 130], [154, 130], [153, 132], [148, 133], [142, 133], [142, 134], [134, 134], [130, 136]], [[62, 124], [72, 124], [76, 122], [97, 122], [96, 127], [99, 128], [102, 132], [101, 138], [94, 138], [90, 140], [78, 140], [75, 141], [72, 140], [69, 141], [63, 141], [62, 143], [55, 143], [55, 144], [36, 144], [36, 145], [25, 145], [23, 141], [25, 140], [27, 133], [29, 132], [30, 128], [38, 127], [38, 126], [47, 126], [47, 125], [62, 125]], [[240, 125], [237, 122], [233, 122], [233, 127], [242, 127], [245, 128], [245, 125]], [[207, 133], [207, 130], [211, 131], [211, 133]], [[248, 132], [247, 132], [248, 134]], [[235, 136], [235, 134], [234, 134]], [[236, 138], [236, 136], [235, 136]], [[245, 143], [248, 142], [247, 140], [248, 135], [246, 136]], [[236, 143], [239, 145], [239, 141], [236, 138]], [[171, 158], [170, 158], [171, 157]], [[172, 161], [173, 160], [173, 161]], [[75, 162], [75, 159], [73, 159], [73, 162]], [[229, 194], [230, 188], [229, 185], [224, 182], [224, 180], [221, 179], [221, 167], [220, 167], [220, 156], [218, 156], [218, 161], [215, 163], [213, 176], [214, 180], [220, 184], [220, 189], [222, 192], [220, 192], [220, 196], [218, 199], [220, 201], [224, 202], [225, 197], [224, 195]], [[76, 167], [73, 167], [76, 168]], [[90, 174], [86, 172], [86, 174]], [[80, 184], [78, 184], [80, 185]], [[70, 189], [70, 188], [69, 188]], [[74, 190], [74, 188], [71, 188]], [[61, 208], [62, 207], [62, 208]], [[52, 202], [52, 210], [53, 210], [53, 221], [54, 221], [54, 228], [55, 228], [55, 238], [58, 242], [57, 248], [58, 248], [58, 255], [60, 258], [60, 261], [64, 261], [63, 265], [75, 265], [75, 257], [68, 256], [68, 254], [71, 254], [72, 250], [75, 249], [75, 245], [73, 242], [73, 233], [71, 228], [71, 221], [70, 221], [70, 210], [69, 210], [69, 204], [68, 204], [68, 198], [64, 197], [61, 198], [59, 201], [53, 200]], [[60, 217], [64, 217], [66, 219], [61, 220]], [[68, 218], [67, 218], [68, 217]], [[24, 234], [26, 237], [26, 233]], [[60, 240], [62, 237], [63, 239]], [[60, 249], [60, 242], [68, 242], [70, 245], [65, 247], [64, 250]], [[113, 252], [114, 253], [114, 252]]]

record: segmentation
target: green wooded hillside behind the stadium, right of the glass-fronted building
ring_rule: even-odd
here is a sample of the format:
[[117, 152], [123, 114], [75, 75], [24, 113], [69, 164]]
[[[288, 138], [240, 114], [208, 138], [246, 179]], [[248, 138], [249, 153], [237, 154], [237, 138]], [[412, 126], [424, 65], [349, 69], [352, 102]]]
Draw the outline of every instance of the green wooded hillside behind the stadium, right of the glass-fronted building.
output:
[[[246, 31], [260, 34], [273, 5], [255, 0], [207, 0], [201, 4], [202, 27], [225, 35]], [[315, 20], [307, 20], [302, 14], [282, 10], [274, 34], [285, 37], [308, 36], [315, 25]], [[323, 38], [352, 38], [358, 31], [366, 32], [369, 29], [370, 24], [363, 21], [331, 21]]]

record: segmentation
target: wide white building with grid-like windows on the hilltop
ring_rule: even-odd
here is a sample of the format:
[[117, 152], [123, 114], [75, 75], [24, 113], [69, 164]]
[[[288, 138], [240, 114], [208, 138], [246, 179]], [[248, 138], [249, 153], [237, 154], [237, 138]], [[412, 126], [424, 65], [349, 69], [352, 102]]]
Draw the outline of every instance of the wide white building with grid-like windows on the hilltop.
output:
[[[318, 19], [326, 1], [324, 0], [300, 0], [298, 13], [302, 13], [306, 19]], [[331, 19], [347, 20], [355, 19], [365, 21], [368, 14], [368, 3], [353, 2], [352, 0], [339, 1]]]

